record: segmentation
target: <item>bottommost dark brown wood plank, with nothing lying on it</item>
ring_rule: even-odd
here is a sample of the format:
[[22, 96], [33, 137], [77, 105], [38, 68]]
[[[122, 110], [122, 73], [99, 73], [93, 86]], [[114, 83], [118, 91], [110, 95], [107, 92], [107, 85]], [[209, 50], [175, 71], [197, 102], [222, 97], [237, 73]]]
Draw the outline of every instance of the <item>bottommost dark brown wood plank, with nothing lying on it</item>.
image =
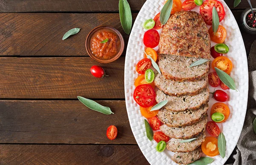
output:
[[1, 165], [149, 165], [137, 145], [0, 145]]

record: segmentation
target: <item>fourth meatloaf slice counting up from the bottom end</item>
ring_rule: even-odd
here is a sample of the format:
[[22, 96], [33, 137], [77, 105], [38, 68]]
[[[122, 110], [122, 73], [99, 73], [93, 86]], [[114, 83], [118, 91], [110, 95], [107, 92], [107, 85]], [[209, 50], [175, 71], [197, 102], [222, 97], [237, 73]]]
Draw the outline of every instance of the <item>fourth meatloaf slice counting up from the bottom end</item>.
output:
[[209, 106], [201, 106], [195, 111], [186, 110], [182, 112], [172, 112], [167, 109], [160, 109], [157, 113], [159, 120], [169, 127], [187, 126], [197, 123], [201, 117], [207, 113]]

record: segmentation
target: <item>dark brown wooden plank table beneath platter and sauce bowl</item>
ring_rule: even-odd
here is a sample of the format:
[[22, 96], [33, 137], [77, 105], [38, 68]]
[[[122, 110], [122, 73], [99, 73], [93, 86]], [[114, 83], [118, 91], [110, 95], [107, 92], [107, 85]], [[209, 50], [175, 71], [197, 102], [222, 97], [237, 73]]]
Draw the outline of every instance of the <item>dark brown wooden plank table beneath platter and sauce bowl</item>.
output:
[[[145, 0], [128, 2], [134, 21]], [[227, 4], [237, 20], [249, 7], [246, 0]], [[98, 25], [114, 26], [127, 44], [118, 0], [0, 0], [0, 12], [0, 165], [147, 165], [125, 108], [125, 51], [99, 64], [85, 50]], [[81, 31], [62, 41], [71, 28]], [[256, 35], [241, 33], [248, 54]], [[95, 64], [110, 77], [94, 78]], [[115, 115], [87, 109], [78, 95]], [[113, 141], [106, 137], [110, 125], [118, 128]]]

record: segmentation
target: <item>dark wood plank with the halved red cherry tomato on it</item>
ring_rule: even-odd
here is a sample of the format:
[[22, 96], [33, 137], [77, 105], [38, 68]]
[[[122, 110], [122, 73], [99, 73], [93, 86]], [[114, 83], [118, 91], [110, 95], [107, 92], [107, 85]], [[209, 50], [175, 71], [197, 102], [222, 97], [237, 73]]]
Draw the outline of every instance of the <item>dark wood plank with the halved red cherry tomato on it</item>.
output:
[[[97, 101], [115, 114], [88, 109], [80, 101], [0, 101], [0, 143], [137, 144], [125, 101]], [[115, 140], [108, 126], [118, 129]]]

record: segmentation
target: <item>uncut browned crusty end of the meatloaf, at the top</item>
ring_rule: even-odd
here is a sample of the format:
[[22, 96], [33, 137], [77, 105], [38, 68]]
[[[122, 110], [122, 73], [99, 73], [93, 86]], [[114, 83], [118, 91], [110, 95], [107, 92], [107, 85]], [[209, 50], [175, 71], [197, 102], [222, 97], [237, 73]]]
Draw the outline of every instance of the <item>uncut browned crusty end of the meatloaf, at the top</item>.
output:
[[210, 36], [202, 16], [195, 11], [172, 14], [160, 35], [158, 53], [210, 59]]

